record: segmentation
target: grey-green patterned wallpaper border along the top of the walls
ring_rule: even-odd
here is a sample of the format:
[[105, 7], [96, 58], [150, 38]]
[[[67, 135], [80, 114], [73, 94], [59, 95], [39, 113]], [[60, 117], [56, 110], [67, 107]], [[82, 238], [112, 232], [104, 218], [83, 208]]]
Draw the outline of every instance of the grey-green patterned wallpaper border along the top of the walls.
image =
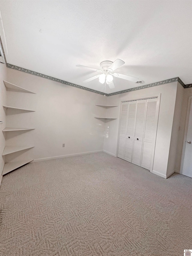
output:
[[101, 94], [101, 95], [106, 95], [106, 96], [117, 95], [117, 94], [125, 93], [125, 92], [132, 92], [132, 91], [136, 91], [136, 90], [140, 90], [140, 89], [145, 89], [145, 88], [149, 88], [149, 87], [153, 87], [153, 86], [158, 86], [158, 85], [161, 85], [161, 84], [173, 83], [173, 82], [176, 82], [176, 81], [178, 81], [184, 88], [192, 87], [192, 83], [185, 85], [179, 77], [174, 77], [174, 78], [170, 78], [170, 79], [163, 80], [163, 81], [160, 81], [160, 82], [150, 83], [150, 84], [138, 86], [138, 87], [135, 87], [135, 88], [131, 88], [131, 89], [127, 89], [127, 90], [123, 90], [123, 91], [119, 91], [119, 92], [112, 92], [112, 93], [104, 94], [104, 92], [99, 92], [97, 90], [86, 88], [84, 86], [80, 86], [80, 85], [77, 85], [77, 84], [74, 84], [74, 83], [69, 83], [67, 81], [64, 81], [64, 80], [61, 80], [61, 79], [58, 79], [58, 78], [55, 78], [55, 77], [50, 77], [50, 76], [47, 76], [47, 75], [44, 75], [44, 74], [41, 74], [41, 73], [38, 73], [38, 72], [35, 72], [35, 71], [31, 71], [31, 70], [26, 69], [26, 68], [21, 68], [21, 67], [15, 66], [15, 65], [11, 65], [9, 63], [6, 63], [6, 66], [7, 66], [7, 68], [12, 68], [12, 69], [22, 71], [22, 72], [25, 72], [25, 73], [28, 73], [28, 74], [32, 74], [32, 75], [35, 75], [35, 76], [38, 76], [38, 77], [43, 77], [43, 78], [46, 78], [46, 79], [49, 79], [49, 80], [52, 80], [52, 81], [55, 81], [55, 82], [58, 82], [58, 83], [63, 83], [63, 84], [69, 85], [69, 86], [73, 86], [73, 87], [76, 87], [76, 88], [79, 88], [79, 89], [83, 89], [83, 90], [86, 90], [86, 91], [89, 91], [89, 92], [95, 92], [95, 93], [98, 93], [98, 94]]

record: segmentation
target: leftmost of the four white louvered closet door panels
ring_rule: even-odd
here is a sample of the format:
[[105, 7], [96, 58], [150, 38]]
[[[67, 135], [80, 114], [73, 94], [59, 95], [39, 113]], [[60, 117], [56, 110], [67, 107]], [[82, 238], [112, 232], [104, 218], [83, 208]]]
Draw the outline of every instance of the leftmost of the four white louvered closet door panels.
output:
[[122, 159], [124, 159], [125, 157], [125, 138], [126, 138], [126, 131], [127, 131], [128, 105], [129, 105], [129, 102], [122, 102], [118, 154], [117, 154], [117, 157]]

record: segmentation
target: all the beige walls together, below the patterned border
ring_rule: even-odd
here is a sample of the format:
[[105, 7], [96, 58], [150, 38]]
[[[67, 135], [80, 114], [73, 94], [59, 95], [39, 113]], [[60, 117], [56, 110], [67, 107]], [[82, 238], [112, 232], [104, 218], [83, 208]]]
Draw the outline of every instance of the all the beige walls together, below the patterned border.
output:
[[[154, 173], [167, 177], [180, 168], [184, 124], [188, 97], [192, 88], [183, 89], [177, 83], [141, 89], [110, 97], [104, 97], [82, 89], [77, 89], [51, 80], [7, 69], [1, 65], [1, 73], [7, 80], [37, 94], [7, 91], [1, 75], [1, 102], [10, 106], [36, 110], [20, 113], [7, 110], [7, 127], [35, 128], [28, 132], [6, 133], [6, 145], [33, 145], [33, 149], [7, 155], [5, 161], [22, 159], [43, 160], [62, 156], [105, 152], [116, 156], [119, 133], [121, 101], [148, 98], [161, 94], [157, 139], [155, 146]], [[118, 105], [104, 109], [95, 104]], [[1, 104], [2, 106], [2, 104]], [[182, 115], [181, 115], [182, 113]], [[106, 123], [95, 116], [117, 118]], [[5, 113], [1, 107], [1, 119]], [[5, 122], [1, 125], [3, 129]], [[4, 136], [1, 133], [1, 152], [4, 149]], [[65, 147], [62, 147], [65, 143]], [[1, 158], [1, 171], [4, 162]]]

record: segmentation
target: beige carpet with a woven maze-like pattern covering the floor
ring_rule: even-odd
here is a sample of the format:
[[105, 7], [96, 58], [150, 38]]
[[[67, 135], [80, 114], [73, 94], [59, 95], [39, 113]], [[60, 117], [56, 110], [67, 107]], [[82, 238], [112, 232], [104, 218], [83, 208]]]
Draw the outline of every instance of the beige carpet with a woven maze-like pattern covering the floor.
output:
[[31, 163], [3, 178], [0, 255], [180, 256], [191, 196], [191, 178], [105, 153]]

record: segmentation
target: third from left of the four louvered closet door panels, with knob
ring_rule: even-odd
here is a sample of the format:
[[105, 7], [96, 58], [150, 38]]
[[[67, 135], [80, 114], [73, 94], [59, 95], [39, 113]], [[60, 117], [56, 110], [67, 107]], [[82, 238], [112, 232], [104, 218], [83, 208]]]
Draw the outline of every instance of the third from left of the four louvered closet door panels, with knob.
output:
[[133, 138], [133, 153], [131, 163], [137, 164], [139, 166], [141, 164], [143, 130], [146, 115], [146, 101], [147, 100], [138, 100], [136, 109], [135, 131]]

